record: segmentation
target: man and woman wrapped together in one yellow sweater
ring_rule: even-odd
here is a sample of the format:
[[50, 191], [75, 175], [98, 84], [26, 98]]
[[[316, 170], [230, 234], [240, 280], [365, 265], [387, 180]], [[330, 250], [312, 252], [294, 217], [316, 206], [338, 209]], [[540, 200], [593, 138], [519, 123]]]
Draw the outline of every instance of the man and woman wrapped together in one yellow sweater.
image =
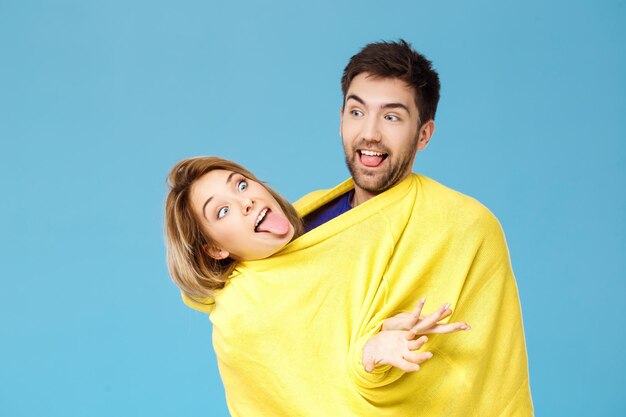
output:
[[[170, 273], [210, 313], [232, 415], [532, 415], [500, 226], [411, 173], [434, 133], [437, 73], [404, 41], [375, 43], [342, 90], [352, 179], [334, 189], [294, 208], [219, 158], [168, 177]], [[442, 307], [421, 317], [423, 296]], [[441, 322], [448, 302], [472, 332]], [[421, 351], [431, 333], [452, 334]]]

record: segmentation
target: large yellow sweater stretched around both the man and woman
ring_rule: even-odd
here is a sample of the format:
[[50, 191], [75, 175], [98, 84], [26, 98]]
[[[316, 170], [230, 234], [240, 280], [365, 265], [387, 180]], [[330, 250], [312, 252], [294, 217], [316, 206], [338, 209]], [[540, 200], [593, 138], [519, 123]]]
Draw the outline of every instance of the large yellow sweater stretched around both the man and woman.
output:
[[[303, 215], [353, 187], [312, 193]], [[382, 321], [427, 297], [469, 332], [431, 336], [419, 372], [361, 365]], [[239, 265], [210, 306], [233, 416], [530, 416], [522, 316], [506, 242], [475, 200], [420, 175]], [[205, 303], [211, 302], [205, 300]]]

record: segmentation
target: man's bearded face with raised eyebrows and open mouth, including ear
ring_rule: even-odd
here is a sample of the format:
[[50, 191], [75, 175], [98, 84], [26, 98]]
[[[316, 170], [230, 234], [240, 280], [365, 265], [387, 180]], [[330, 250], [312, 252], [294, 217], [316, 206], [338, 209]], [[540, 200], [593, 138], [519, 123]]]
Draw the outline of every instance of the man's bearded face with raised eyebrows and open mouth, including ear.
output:
[[425, 141], [422, 133], [411, 87], [396, 78], [357, 75], [341, 111], [341, 138], [357, 194], [367, 199], [406, 178], [432, 129]]

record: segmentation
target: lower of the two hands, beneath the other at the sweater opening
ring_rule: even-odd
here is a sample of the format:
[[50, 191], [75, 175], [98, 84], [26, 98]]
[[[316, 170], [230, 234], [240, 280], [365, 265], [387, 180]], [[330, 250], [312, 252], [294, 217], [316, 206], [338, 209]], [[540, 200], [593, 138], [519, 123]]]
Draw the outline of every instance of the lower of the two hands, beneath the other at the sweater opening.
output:
[[367, 341], [363, 348], [363, 367], [372, 372], [376, 365], [392, 365], [404, 372], [419, 371], [419, 364], [432, 358], [430, 352], [415, 352], [424, 346], [426, 336], [415, 339], [413, 330], [384, 330]]

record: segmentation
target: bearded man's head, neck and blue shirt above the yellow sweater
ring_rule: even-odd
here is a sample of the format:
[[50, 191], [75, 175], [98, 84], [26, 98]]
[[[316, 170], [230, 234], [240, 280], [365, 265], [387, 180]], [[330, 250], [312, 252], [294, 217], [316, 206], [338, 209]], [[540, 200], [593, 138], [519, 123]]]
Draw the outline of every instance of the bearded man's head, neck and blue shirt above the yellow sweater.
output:
[[305, 219], [307, 230], [405, 179], [435, 131], [439, 76], [404, 41], [367, 45], [341, 79], [341, 137], [354, 190]]

